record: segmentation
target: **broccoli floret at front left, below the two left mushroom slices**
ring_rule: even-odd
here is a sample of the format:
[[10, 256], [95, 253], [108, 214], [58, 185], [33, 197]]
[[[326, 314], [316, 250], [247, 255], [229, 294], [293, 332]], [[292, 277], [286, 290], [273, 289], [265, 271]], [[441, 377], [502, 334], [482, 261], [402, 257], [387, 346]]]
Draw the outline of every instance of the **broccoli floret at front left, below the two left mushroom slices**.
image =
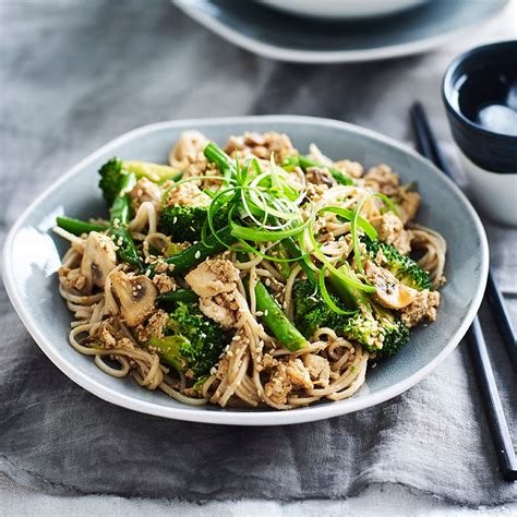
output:
[[206, 317], [195, 303], [178, 303], [169, 314], [166, 336], [152, 337], [144, 346], [196, 382], [208, 375], [228, 342], [223, 327]]

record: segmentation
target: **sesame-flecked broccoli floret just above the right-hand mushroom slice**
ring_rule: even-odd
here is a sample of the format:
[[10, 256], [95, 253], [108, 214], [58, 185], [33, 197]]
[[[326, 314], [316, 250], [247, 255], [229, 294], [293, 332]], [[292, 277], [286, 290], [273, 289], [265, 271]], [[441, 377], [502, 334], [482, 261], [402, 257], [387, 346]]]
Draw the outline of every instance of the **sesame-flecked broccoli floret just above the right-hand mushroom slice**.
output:
[[410, 256], [402, 255], [394, 245], [378, 240], [362, 239], [366, 247], [366, 253], [372, 261], [376, 261], [378, 253], [382, 254], [382, 266], [388, 269], [405, 286], [412, 287], [419, 291], [431, 289], [431, 279]]

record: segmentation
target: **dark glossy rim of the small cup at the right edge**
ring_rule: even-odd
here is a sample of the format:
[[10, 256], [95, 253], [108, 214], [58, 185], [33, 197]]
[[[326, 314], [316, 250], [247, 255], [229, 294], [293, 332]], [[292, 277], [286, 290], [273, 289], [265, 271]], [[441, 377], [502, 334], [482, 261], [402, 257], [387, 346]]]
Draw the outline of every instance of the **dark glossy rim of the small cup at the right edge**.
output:
[[517, 142], [516, 135], [504, 134], [504, 133], [495, 133], [494, 131], [489, 131], [484, 129], [482, 125], [472, 122], [470, 119], [465, 117], [459, 109], [455, 109], [454, 106], [450, 104], [449, 95], [447, 94], [446, 89], [448, 87], [452, 91], [452, 77], [454, 72], [459, 68], [459, 65], [470, 56], [476, 55], [482, 50], [485, 50], [491, 47], [500, 47], [507, 44], [515, 44], [517, 46], [517, 39], [502, 39], [501, 41], [493, 41], [486, 45], [480, 45], [479, 47], [471, 48], [466, 50], [465, 52], [460, 53], [449, 63], [447, 67], [444, 77], [442, 80], [442, 100], [445, 105], [446, 110], [460, 123], [472, 130], [473, 132], [478, 132], [483, 136], [489, 136], [491, 139], [506, 141], [506, 142]]

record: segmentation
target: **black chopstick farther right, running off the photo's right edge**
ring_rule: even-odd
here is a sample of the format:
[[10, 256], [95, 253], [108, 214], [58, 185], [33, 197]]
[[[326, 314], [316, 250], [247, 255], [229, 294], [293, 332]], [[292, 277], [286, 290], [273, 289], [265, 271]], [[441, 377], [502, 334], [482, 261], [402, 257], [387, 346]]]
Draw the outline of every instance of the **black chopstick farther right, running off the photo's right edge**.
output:
[[[420, 103], [414, 103], [411, 107], [411, 119], [417, 133], [419, 153], [429, 158], [438, 169], [443, 170], [453, 181], [455, 181], [455, 178], [450, 172], [450, 168], [444, 160], [437, 141], [429, 125], [428, 117], [425, 116], [423, 106]], [[492, 306], [492, 313], [503, 338], [503, 342], [506, 347], [506, 352], [508, 353], [512, 368], [514, 369], [514, 372], [517, 373], [517, 342], [515, 330], [512, 325], [508, 310], [504, 303], [503, 294], [494, 279], [491, 268], [489, 268], [486, 292], [489, 294], [488, 299]]]

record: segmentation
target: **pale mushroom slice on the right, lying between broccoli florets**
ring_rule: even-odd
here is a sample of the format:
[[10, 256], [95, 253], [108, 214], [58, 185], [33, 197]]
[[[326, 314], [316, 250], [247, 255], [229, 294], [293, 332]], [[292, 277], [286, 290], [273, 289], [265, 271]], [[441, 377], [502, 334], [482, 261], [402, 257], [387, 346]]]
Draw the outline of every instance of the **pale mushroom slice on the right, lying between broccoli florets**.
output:
[[387, 269], [366, 262], [364, 273], [375, 287], [373, 298], [387, 309], [404, 309], [409, 305], [418, 294], [416, 289], [400, 284]]

